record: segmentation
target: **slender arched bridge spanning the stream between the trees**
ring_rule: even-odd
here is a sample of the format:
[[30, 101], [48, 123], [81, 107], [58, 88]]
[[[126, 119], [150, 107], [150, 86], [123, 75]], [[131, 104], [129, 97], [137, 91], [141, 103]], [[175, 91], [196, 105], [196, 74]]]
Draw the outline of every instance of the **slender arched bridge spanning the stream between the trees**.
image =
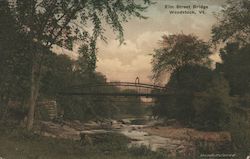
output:
[[164, 93], [165, 89], [165, 87], [159, 85], [140, 83], [137, 77], [135, 82], [105, 82], [70, 86], [58, 94], [66, 96], [135, 96], [153, 98], [166, 96]]

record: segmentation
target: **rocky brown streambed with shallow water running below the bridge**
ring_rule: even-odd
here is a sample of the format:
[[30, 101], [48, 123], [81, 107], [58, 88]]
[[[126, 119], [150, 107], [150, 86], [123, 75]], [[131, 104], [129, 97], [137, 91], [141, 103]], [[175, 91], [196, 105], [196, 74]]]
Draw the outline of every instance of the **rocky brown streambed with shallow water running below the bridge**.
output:
[[[42, 136], [85, 140], [91, 143], [96, 136], [119, 134], [128, 138], [128, 147], [145, 146], [157, 152], [163, 150], [169, 156], [197, 156], [202, 153], [229, 152], [231, 150], [231, 136], [228, 132], [204, 132], [190, 128], [159, 126], [159, 122], [146, 119], [133, 125], [135, 119], [90, 121], [64, 121], [63, 124], [41, 122], [36, 133]], [[141, 119], [140, 119], [141, 121]], [[161, 125], [161, 124], [160, 124]]]

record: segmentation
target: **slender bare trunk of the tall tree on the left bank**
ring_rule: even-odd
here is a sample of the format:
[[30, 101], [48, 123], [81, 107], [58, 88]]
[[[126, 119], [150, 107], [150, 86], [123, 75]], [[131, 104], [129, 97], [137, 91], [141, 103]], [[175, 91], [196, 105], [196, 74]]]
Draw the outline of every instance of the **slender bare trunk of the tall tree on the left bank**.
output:
[[39, 92], [39, 83], [40, 83], [40, 68], [36, 67], [36, 63], [34, 62], [32, 65], [31, 71], [31, 86], [30, 86], [30, 97], [28, 100], [28, 119], [27, 119], [27, 129], [31, 130], [33, 128], [34, 118], [35, 118], [35, 108], [36, 101]]

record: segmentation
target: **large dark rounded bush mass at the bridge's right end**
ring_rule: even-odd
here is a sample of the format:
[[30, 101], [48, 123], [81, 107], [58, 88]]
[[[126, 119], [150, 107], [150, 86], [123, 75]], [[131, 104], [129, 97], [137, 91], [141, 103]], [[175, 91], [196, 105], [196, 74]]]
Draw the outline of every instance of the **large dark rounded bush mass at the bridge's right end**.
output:
[[199, 65], [177, 69], [166, 85], [166, 98], [154, 108], [156, 116], [174, 118], [203, 130], [221, 130], [229, 120], [229, 86], [212, 70]]

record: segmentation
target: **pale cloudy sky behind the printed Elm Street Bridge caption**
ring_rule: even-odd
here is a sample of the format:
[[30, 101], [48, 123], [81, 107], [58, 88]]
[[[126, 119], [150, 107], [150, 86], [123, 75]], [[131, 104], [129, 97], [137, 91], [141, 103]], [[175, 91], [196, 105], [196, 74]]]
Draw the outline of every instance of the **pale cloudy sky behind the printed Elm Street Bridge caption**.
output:
[[[139, 0], [138, 0], [139, 1]], [[221, 11], [225, 0], [154, 0], [144, 15], [146, 20], [131, 18], [123, 24], [125, 42], [120, 45], [113, 31], [106, 27], [105, 36], [108, 43], [98, 41], [97, 71], [103, 73], [108, 81], [135, 81], [140, 78], [142, 83], [152, 83], [151, 60], [154, 49], [159, 47], [159, 40], [169, 34], [195, 34], [208, 41], [211, 37], [211, 27], [216, 23], [214, 14]], [[174, 6], [174, 9], [165, 6]], [[203, 5], [207, 9], [191, 9], [197, 14], [170, 14], [170, 10], [179, 6]], [[199, 14], [198, 11], [205, 11]], [[218, 54], [211, 57], [219, 60]]]

